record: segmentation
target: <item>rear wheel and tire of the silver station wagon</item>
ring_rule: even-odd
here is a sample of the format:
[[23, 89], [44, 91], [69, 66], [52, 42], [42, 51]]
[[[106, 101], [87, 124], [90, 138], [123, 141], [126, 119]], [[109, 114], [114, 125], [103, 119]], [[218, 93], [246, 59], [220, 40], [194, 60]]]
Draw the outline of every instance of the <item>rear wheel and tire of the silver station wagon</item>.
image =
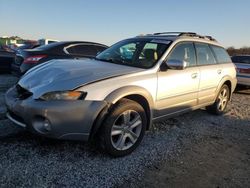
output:
[[228, 86], [224, 84], [221, 87], [220, 92], [218, 93], [214, 104], [212, 104], [211, 106], [207, 106], [206, 110], [211, 114], [222, 115], [227, 108], [229, 98], [230, 98], [230, 90]]

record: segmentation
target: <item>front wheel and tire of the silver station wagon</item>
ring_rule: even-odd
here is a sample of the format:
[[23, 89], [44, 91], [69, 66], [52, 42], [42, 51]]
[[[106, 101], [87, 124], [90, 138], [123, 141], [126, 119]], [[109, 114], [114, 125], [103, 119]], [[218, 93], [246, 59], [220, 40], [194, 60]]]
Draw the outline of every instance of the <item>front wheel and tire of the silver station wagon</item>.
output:
[[141, 143], [147, 117], [135, 101], [122, 99], [115, 104], [99, 131], [99, 144], [113, 157], [130, 154]]

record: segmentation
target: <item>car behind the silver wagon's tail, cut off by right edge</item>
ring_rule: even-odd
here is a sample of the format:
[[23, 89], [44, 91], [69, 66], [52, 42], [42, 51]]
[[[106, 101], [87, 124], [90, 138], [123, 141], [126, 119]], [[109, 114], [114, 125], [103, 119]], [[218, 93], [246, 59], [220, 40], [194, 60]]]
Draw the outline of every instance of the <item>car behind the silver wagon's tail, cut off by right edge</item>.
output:
[[238, 84], [250, 86], [250, 55], [236, 55], [231, 59], [237, 68]]

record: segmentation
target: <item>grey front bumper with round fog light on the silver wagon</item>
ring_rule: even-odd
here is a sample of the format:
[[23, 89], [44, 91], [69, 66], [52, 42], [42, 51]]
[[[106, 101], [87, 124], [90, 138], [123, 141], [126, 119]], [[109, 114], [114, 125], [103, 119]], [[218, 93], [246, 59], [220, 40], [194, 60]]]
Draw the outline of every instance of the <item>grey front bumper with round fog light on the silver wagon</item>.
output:
[[31, 97], [20, 100], [16, 88], [5, 95], [7, 117], [27, 130], [51, 138], [66, 140], [89, 139], [105, 101], [41, 101]]

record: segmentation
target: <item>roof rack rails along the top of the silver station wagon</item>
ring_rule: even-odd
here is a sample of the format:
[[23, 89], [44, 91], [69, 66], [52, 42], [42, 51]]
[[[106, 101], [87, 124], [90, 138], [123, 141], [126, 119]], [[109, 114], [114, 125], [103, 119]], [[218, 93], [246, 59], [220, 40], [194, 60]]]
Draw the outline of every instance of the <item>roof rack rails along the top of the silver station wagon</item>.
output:
[[146, 34], [139, 36], [176, 36], [176, 37], [188, 36], [188, 37], [196, 37], [196, 38], [216, 41], [216, 39], [214, 39], [211, 36], [202, 36], [194, 32], [160, 32], [160, 33], [153, 33], [153, 34]]

